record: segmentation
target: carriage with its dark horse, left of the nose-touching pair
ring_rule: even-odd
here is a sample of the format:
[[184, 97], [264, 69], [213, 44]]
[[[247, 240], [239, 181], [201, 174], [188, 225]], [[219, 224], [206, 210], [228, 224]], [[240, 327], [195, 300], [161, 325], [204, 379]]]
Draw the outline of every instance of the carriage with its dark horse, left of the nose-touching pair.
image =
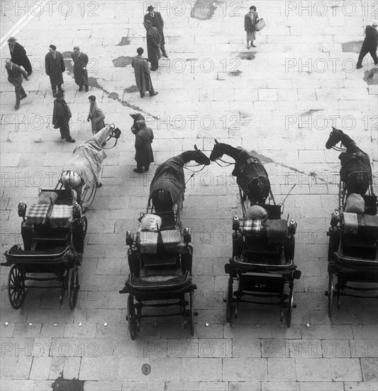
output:
[[[183, 230], [180, 220], [185, 189], [183, 166], [191, 160], [210, 164], [195, 147], [194, 151], [183, 152], [157, 168], [150, 185], [146, 213], [141, 213], [139, 219], [138, 232], [126, 234], [130, 274], [120, 293], [128, 293], [128, 330], [132, 340], [140, 331], [141, 318], [157, 316], [184, 316], [185, 327], [189, 318], [191, 336], [194, 336], [193, 247], [190, 230]], [[189, 300], [185, 298], [187, 294]], [[179, 306], [180, 311], [142, 315], [146, 306]]]

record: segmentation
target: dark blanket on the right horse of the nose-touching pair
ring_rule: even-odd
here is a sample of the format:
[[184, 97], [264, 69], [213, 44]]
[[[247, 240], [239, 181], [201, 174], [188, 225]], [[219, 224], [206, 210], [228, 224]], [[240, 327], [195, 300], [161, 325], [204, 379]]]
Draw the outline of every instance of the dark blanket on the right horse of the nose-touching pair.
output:
[[242, 149], [236, 158], [235, 167], [232, 172], [236, 176], [236, 183], [248, 193], [248, 185], [256, 178], [268, 178], [267, 171], [259, 159], [252, 155], [252, 152]]

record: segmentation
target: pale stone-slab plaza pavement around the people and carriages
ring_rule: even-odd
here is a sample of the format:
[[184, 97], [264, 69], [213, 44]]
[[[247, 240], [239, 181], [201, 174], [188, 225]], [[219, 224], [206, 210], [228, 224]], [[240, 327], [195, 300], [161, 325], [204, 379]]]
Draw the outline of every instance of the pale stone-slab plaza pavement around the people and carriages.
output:
[[[169, 58], [152, 73], [159, 95], [141, 99], [130, 60], [139, 46], [146, 50], [150, 4], [165, 21]], [[248, 50], [243, 19], [251, 5], [267, 26]], [[1, 262], [22, 245], [18, 202], [31, 205], [38, 188], [55, 187], [74, 146], [91, 137], [89, 95], [123, 131], [106, 151], [104, 186], [86, 213], [76, 309], [67, 299], [60, 306], [59, 289], [28, 291], [22, 308], [12, 309], [9, 267], [1, 267], [1, 390], [377, 390], [374, 301], [343, 297], [330, 319], [324, 294], [340, 169], [338, 152], [325, 148], [332, 125], [369, 154], [378, 190], [377, 68], [367, 55], [355, 70], [377, 12], [377, 1], [357, 0], [1, 1]], [[26, 48], [34, 70], [17, 112], [4, 70], [9, 36]], [[74, 45], [89, 55], [89, 92], [77, 90], [72, 66], [64, 74], [77, 144], [61, 141], [51, 124], [50, 44], [67, 65]], [[155, 133], [149, 173], [133, 172], [133, 109]], [[191, 178], [184, 201], [194, 245], [194, 337], [182, 318], [150, 318], [131, 341], [127, 295], [118, 294], [129, 272], [126, 231], [138, 228], [157, 165], [194, 144], [209, 156], [214, 138], [256, 152], [277, 203], [296, 185], [283, 215], [298, 223], [301, 279], [291, 327], [279, 321], [278, 306], [245, 306], [235, 327], [226, 323], [224, 264], [241, 209], [232, 167], [213, 163]]]

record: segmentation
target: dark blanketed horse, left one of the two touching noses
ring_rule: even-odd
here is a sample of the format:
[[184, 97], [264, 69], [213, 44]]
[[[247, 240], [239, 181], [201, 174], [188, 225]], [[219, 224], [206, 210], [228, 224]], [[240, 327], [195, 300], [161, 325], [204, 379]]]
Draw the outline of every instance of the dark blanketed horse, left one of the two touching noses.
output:
[[184, 164], [194, 160], [197, 164], [209, 166], [209, 158], [196, 145], [194, 151], [185, 151], [161, 164], [152, 178], [150, 185], [150, 200], [155, 212], [167, 212], [177, 204], [182, 209], [185, 191]]

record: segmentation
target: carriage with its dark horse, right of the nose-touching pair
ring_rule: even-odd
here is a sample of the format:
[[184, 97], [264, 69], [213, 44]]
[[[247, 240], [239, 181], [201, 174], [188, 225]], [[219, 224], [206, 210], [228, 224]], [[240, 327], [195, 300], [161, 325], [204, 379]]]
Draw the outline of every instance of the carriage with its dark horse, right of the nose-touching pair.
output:
[[[281, 218], [282, 205], [275, 204], [267, 171], [259, 159], [249, 151], [216, 141], [211, 161], [220, 159], [223, 154], [235, 159], [233, 175], [237, 177], [243, 211], [243, 219], [237, 215], [233, 218], [233, 255], [225, 264], [229, 274], [226, 321], [233, 326], [240, 303], [278, 304], [281, 321], [284, 309], [287, 309], [289, 328], [294, 306], [294, 279], [301, 277], [294, 264], [296, 222]], [[272, 204], [265, 204], [267, 198]], [[234, 282], [238, 283], [235, 291]], [[260, 301], [247, 300], [245, 296]]]

